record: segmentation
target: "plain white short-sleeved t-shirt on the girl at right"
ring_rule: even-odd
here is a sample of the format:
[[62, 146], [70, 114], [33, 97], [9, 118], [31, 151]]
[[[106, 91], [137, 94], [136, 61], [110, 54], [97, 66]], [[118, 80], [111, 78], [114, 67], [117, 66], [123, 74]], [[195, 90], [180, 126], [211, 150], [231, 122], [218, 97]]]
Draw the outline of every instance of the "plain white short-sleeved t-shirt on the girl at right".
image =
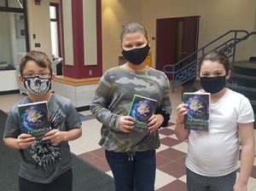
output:
[[190, 130], [186, 159], [189, 170], [207, 177], [236, 171], [240, 145], [237, 123], [253, 121], [253, 108], [247, 97], [228, 89], [210, 104], [209, 131]]

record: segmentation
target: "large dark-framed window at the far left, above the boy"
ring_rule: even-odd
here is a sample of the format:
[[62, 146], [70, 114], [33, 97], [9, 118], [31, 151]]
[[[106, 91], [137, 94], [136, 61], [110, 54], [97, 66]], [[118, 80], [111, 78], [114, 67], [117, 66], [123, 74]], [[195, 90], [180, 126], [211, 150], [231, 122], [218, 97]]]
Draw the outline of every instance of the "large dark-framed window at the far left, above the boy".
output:
[[0, 0], [0, 69], [19, 66], [28, 47], [26, 0]]

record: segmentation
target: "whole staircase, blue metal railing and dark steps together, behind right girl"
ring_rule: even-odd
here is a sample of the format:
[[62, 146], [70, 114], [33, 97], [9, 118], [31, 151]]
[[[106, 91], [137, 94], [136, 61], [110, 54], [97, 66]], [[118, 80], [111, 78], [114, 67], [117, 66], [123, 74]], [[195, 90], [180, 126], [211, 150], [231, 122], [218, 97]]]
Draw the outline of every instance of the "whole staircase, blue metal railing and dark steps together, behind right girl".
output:
[[[256, 58], [254, 57], [250, 61], [235, 61], [236, 45], [255, 34], [256, 32], [247, 32], [245, 30], [230, 30], [213, 39], [212, 42], [207, 43], [201, 49], [197, 49], [192, 54], [184, 57], [181, 61], [166, 64], [163, 70], [166, 75], [172, 75], [172, 92], [179, 85], [184, 86], [183, 91], [192, 92], [201, 89], [200, 82], [195, 80], [197, 65], [201, 57], [209, 52], [209, 47], [215, 47], [214, 49], [222, 51], [230, 58], [233, 66], [227, 87], [247, 96], [253, 106], [254, 119], [256, 119]], [[224, 43], [219, 44], [219, 42]], [[197, 58], [195, 61], [191, 61], [191, 57], [195, 57], [195, 55]], [[184, 67], [178, 67], [183, 62], [188, 63]], [[256, 129], [256, 123], [254, 123], [254, 129]]]

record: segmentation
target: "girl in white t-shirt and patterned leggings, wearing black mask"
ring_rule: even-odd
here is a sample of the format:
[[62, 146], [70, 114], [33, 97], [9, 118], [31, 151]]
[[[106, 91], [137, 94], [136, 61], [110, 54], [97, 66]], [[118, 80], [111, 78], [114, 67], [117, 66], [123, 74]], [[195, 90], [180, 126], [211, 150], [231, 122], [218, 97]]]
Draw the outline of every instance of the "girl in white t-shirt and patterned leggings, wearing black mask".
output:
[[[175, 133], [188, 140], [187, 185], [196, 191], [247, 191], [253, 168], [253, 108], [247, 97], [225, 88], [230, 78], [226, 55], [212, 51], [199, 63], [201, 92], [211, 93], [208, 131], [186, 130], [183, 119], [187, 105], [177, 107]], [[241, 169], [236, 181], [241, 144]]]

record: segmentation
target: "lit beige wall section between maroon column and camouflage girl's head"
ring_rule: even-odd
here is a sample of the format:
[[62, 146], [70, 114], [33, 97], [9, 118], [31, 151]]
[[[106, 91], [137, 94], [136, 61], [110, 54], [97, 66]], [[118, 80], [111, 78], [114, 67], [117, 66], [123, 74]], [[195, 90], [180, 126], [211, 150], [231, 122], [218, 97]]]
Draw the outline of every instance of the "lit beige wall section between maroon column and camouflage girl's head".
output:
[[102, 0], [102, 62], [103, 72], [119, 65], [121, 54], [119, 35], [122, 27], [141, 20], [138, 0]]

